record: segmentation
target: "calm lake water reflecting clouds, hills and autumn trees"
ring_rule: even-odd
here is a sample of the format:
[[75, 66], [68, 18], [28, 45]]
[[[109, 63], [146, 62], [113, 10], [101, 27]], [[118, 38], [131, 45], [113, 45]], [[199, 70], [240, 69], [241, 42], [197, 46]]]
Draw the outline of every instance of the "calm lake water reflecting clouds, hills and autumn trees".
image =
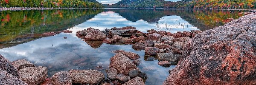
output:
[[[238, 12], [239, 10], [163, 9], [0, 11], [0, 54], [10, 61], [27, 59], [37, 66], [46, 66], [51, 77], [57, 72], [70, 69], [96, 69], [105, 73], [109, 59], [114, 56], [111, 51], [122, 49], [141, 56], [140, 60], [143, 62], [138, 67], [148, 75], [146, 85], [161, 85], [168, 77], [168, 71], [175, 66], [165, 68], [157, 64], [158, 60], [147, 61], [144, 51], [135, 51], [131, 45], [99, 43], [99, 48], [92, 48], [90, 42], [76, 37], [76, 31], [88, 27], [105, 30], [124, 26], [134, 26], [143, 32], [149, 29], [172, 33], [205, 31], [224, 25], [227, 18], [238, 19], [243, 16]], [[71, 30], [73, 33], [61, 33], [51, 37], [42, 35], [62, 30]], [[103, 66], [103, 69], [96, 66]]]

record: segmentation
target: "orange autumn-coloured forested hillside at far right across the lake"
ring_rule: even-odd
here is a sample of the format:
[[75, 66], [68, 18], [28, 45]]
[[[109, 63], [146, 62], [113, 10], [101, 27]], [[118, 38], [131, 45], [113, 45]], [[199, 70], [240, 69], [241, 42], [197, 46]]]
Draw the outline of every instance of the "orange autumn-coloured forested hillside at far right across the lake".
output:
[[256, 0], [182, 0], [168, 2], [164, 8], [256, 8]]

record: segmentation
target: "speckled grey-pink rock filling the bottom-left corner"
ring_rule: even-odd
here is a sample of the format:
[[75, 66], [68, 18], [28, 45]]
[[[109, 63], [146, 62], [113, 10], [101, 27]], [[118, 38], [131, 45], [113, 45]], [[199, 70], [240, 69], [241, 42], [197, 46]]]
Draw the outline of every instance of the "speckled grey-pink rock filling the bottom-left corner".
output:
[[12, 74], [9, 74], [7, 71], [0, 69], [0, 85], [27, 85], [26, 82], [13, 77]]

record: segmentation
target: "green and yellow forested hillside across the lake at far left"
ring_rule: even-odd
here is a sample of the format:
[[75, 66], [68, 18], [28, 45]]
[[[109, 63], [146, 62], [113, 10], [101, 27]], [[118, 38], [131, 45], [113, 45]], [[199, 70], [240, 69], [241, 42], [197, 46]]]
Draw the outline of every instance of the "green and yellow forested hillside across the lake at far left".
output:
[[102, 8], [96, 0], [0, 0], [0, 7]]

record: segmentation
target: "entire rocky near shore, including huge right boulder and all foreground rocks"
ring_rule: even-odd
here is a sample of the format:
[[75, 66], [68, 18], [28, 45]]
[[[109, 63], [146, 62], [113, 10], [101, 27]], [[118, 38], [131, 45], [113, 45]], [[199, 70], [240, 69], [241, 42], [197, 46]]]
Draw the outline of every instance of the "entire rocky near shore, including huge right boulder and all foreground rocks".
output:
[[[59, 31], [71, 33], [72, 31]], [[135, 27], [111, 28], [105, 31], [87, 28], [76, 36], [93, 48], [103, 43], [132, 45], [145, 50], [145, 60], [158, 59], [158, 65], [169, 67], [169, 77], [163, 85], [255, 85], [256, 84], [256, 13], [250, 11], [214, 29], [138, 31]], [[52, 36], [57, 33], [45, 33]], [[0, 84], [3, 85], [145, 85], [147, 74], [140, 71], [140, 56], [117, 50], [110, 58], [104, 75], [96, 70], [69, 70], [48, 77], [46, 67], [35, 66], [25, 59], [10, 62], [0, 55]]]

